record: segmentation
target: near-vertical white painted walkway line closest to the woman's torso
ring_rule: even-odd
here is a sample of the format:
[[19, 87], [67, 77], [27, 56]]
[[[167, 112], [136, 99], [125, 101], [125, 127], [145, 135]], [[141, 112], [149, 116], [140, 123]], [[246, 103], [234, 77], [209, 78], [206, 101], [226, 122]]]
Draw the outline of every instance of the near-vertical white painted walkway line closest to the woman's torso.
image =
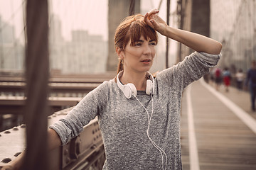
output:
[[188, 108], [188, 146], [189, 146], [189, 162], [191, 170], [199, 170], [198, 148], [196, 144], [196, 133], [193, 121], [193, 108], [191, 101], [191, 85], [186, 91], [186, 100]]

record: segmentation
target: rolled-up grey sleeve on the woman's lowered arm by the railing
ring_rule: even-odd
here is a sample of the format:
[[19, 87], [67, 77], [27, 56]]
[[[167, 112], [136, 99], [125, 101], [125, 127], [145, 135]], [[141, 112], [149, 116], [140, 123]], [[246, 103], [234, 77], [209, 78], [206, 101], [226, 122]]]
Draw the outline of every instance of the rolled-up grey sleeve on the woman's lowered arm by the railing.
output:
[[79, 135], [83, 127], [90, 120], [104, 112], [107, 104], [106, 88], [106, 83], [103, 83], [93, 91], [90, 91], [65, 118], [50, 125], [50, 128], [55, 130], [60, 136], [62, 145], [65, 145], [70, 139]]

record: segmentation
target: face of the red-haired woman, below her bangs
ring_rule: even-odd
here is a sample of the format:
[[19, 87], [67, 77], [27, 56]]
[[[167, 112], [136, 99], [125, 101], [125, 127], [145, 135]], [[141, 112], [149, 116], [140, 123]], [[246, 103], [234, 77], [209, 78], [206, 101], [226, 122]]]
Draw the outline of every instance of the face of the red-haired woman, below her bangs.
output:
[[122, 55], [124, 69], [129, 72], [148, 72], [156, 54], [155, 46], [155, 40], [145, 40], [144, 36], [141, 36], [134, 46], [129, 40]]

